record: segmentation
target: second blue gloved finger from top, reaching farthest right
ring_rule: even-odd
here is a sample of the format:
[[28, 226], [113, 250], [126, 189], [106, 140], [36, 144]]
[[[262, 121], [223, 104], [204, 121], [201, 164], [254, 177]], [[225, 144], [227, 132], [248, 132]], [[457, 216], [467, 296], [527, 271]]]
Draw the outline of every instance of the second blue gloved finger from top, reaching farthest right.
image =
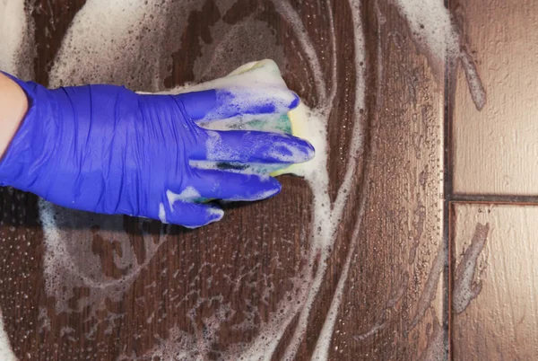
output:
[[208, 130], [205, 141], [191, 149], [193, 161], [239, 163], [304, 163], [314, 147], [304, 139], [279, 133]]

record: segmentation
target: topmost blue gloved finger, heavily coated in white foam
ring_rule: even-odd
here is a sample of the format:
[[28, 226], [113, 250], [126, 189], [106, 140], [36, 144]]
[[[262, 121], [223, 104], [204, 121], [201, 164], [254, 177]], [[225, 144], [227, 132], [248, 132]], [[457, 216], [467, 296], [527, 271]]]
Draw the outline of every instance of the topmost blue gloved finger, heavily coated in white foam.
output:
[[277, 86], [237, 86], [175, 95], [195, 121], [238, 116], [285, 114], [299, 105], [299, 96]]

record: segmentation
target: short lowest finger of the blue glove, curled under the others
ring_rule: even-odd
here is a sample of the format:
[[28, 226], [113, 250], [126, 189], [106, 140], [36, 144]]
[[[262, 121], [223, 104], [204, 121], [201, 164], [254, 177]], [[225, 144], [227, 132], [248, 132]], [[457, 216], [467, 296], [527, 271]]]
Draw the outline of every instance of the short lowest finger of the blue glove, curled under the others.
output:
[[165, 201], [159, 207], [159, 219], [162, 223], [183, 225], [187, 228], [209, 225], [220, 221], [222, 216], [224, 211], [220, 207], [182, 200]]

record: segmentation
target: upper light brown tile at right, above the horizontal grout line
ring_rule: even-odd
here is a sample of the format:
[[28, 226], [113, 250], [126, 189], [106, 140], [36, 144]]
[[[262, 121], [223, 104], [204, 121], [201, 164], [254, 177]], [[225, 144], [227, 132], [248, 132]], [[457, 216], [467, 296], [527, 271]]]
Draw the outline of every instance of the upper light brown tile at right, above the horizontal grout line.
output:
[[454, 104], [456, 193], [538, 193], [538, 2], [458, 1], [487, 103], [476, 110], [463, 69]]

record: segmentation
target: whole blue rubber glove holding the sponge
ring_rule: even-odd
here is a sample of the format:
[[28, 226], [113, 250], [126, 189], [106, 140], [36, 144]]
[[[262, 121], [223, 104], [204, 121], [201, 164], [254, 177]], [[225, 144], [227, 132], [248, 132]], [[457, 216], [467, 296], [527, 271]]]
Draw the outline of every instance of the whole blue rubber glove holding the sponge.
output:
[[7, 76], [26, 92], [29, 110], [0, 162], [0, 185], [59, 206], [198, 227], [223, 216], [200, 198], [252, 201], [281, 185], [194, 163], [302, 163], [314, 155], [294, 136], [196, 124], [238, 114], [279, 116], [299, 103], [290, 91], [157, 95], [100, 84], [49, 90]]

